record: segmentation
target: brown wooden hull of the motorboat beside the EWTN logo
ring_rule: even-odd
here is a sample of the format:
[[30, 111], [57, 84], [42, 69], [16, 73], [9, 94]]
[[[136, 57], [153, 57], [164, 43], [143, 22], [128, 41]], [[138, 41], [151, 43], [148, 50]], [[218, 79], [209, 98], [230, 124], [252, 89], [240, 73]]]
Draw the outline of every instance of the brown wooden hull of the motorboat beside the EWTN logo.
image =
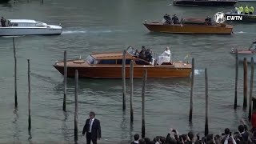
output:
[[232, 34], [233, 26], [160, 25], [144, 23], [153, 32], [172, 34]]

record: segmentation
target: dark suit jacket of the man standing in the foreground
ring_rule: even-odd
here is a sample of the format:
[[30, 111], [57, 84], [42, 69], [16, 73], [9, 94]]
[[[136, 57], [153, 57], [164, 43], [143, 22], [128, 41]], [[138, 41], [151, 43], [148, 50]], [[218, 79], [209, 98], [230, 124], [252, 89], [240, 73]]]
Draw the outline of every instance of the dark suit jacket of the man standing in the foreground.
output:
[[[86, 138], [89, 135], [90, 130], [90, 118], [86, 119], [86, 124], [83, 126], [82, 134], [86, 134]], [[91, 139], [102, 138], [101, 124], [98, 119], [94, 118], [93, 125], [91, 126]]]

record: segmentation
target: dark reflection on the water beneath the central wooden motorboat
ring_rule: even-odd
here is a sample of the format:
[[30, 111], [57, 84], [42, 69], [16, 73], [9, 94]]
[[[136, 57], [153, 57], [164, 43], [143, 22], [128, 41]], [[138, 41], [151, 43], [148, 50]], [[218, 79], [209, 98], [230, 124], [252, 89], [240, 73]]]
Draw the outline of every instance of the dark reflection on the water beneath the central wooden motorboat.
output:
[[[154, 89], [156, 87], [177, 87], [177, 86], [190, 86], [190, 77], [188, 78], [148, 78], [146, 89]], [[142, 78], [134, 78], [134, 86], [141, 86]], [[67, 89], [74, 88], [74, 78], [67, 78]], [[103, 78], [80, 78], [79, 79], [79, 92], [90, 89], [97, 92], [109, 92], [110, 89], [118, 91], [122, 89], [122, 79], [103, 79]], [[126, 87], [129, 86], [129, 78], [126, 78]], [[63, 82], [59, 82], [54, 86], [54, 92], [62, 94], [64, 89]]]

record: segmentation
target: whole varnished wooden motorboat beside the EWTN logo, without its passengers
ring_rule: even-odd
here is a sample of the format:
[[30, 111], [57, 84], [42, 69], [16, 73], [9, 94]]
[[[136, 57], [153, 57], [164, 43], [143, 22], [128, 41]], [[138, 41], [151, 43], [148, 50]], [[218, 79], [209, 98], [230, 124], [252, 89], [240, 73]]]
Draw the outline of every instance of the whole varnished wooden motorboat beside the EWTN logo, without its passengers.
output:
[[145, 22], [144, 26], [152, 32], [172, 34], [232, 34], [233, 26], [225, 23], [211, 22], [208, 25], [204, 19], [183, 18], [178, 24], [163, 22]]

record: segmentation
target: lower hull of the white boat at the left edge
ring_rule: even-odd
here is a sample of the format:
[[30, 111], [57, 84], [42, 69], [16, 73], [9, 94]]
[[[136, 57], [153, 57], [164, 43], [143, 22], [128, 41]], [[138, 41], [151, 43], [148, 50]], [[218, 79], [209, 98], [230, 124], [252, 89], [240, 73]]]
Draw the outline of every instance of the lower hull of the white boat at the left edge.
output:
[[0, 36], [16, 36], [16, 35], [53, 35], [62, 34], [62, 29], [38, 27], [38, 28], [14, 28], [0, 27]]

